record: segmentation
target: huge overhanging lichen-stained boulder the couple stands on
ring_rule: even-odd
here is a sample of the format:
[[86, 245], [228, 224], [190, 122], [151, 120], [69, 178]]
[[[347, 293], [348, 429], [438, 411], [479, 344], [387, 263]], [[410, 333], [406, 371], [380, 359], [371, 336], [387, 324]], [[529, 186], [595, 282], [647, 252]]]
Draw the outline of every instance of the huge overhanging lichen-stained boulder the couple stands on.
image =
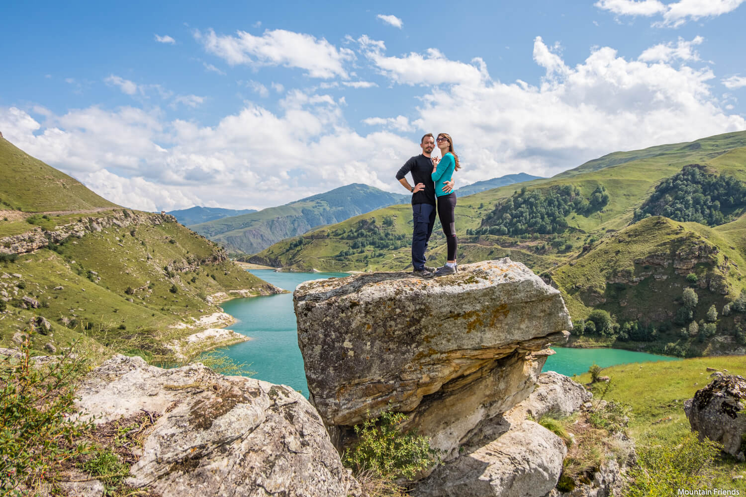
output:
[[510, 259], [435, 279], [372, 273], [293, 295], [311, 401], [338, 448], [390, 409], [452, 457], [468, 432], [525, 399], [571, 321], [560, 292]]

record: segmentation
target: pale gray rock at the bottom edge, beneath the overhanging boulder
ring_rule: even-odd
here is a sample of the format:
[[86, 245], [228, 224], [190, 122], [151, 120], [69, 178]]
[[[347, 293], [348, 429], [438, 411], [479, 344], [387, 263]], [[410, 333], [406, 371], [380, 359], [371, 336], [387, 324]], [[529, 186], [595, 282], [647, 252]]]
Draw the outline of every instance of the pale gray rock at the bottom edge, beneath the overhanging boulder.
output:
[[[543, 497], [560, 478], [567, 454], [560, 437], [533, 421], [494, 437], [477, 433], [454, 460], [438, 466], [413, 490], [415, 497]], [[486, 428], [486, 427], [482, 427]], [[500, 431], [493, 425], [489, 431]]]

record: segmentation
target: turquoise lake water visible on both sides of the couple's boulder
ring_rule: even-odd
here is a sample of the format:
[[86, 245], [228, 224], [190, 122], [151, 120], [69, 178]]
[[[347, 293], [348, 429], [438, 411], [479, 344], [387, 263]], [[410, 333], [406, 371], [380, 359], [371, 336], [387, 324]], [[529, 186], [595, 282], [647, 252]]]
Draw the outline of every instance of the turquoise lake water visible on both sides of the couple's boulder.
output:
[[[348, 273], [275, 273], [271, 269], [250, 272], [289, 291], [310, 279], [350, 276]], [[249, 369], [256, 372], [254, 378], [286, 384], [308, 396], [303, 358], [298, 349], [295, 313], [292, 311], [292, 294], [234, 299], [223, 303], [222, 308], [238, 320], [228, 328], [251, 337], [250, 341], [230, 346], [224, 352], [236, 361], [251, 364]], [[554, 350], [557, 354], [547, 359], [544, 370], [557, 371], [567, 376], [586, 373], [594, 362], [601, 367], [608, 367], [630, 362], [678, 360], [665, 355], [621, 349], [555, 347]]]

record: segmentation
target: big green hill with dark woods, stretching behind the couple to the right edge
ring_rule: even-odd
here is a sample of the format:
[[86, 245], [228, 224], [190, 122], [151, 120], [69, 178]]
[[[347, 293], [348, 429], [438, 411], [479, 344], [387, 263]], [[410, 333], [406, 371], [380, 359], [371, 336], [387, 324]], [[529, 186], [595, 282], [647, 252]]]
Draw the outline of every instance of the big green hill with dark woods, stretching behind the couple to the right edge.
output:
[[[746, 288], [740, 272], [746, 268], [746, 218], [741, 215], [746, 199], [737, 194], [715, 215], [714, 202], [703, 210], [699, 200], [686, 203], [689, 190], [669, 191], [670, 207], [679, 215], [699, 216], [703, 222], [708, 216], [724, 221], [741, 217], [717, 227], [660, 217], [633, 224], [636, 209], [655, 194], [656, 186], [680, 177], [692, 164], [713, 178], [733, 175], [720, 183], [712, 180], [712, 191], [700, 193], [703, 199], [721, 198], [721, 185], [742, 191], [735, 186], [746, 182], [746, 132], [612, 153], [552, 178], [521, 183], [521, 189], [503, 186], [460, 197], [458, 260], [509, 256], [557, 285], [574, 320], [586, 320], [593, 310], [609, 312], [613, 329], [595, 335], [576, 332], [577, 346], [614, 344], [672, 355], [746, 352], [746, 316], [722, 315], [723, 307], [736, 302]], [[411, 217], [409, 206], [389, 206], [280, 241], [247, 260], [287, 270], [411, 268]], [[436, 224], [426, 254], [433, 265], [445, 261], [444, 242]], [[699, 303], [691, 317], [674, 323], [687, 286], [698, 294]], [[706, 320], [713, 305], [719, 315], [715, 335]], [[706, 332], [689, 333], [692, 321]]]

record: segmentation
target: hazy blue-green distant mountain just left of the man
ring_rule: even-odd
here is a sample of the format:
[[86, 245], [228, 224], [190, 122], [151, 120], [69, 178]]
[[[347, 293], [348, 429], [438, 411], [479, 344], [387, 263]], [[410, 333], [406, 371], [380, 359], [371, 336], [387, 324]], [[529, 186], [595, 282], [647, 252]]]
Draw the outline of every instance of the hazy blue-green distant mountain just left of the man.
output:
[[257, 253], [283, 238], [301, 235], [324, 224], [410, 199], [372, 186], [353, 183], [283, 206], [223, 218], [189, 228], [225, 245], [229, 250]]

